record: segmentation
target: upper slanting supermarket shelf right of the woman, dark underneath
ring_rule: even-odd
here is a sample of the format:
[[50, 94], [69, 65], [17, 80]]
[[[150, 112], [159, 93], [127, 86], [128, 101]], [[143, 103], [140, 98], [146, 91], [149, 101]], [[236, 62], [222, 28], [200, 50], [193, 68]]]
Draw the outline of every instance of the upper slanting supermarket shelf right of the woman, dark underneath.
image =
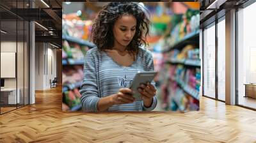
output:
[[168, 49], [163, 50], [163, 52], [169, 52], [172, 49], [180, 49], [186, 46], [188, 43], [198, 43], [199, 40], [199, 30], [192, 33], [186, 34], [181, 40], [177, 41], [175, 44], [168, 47]]

